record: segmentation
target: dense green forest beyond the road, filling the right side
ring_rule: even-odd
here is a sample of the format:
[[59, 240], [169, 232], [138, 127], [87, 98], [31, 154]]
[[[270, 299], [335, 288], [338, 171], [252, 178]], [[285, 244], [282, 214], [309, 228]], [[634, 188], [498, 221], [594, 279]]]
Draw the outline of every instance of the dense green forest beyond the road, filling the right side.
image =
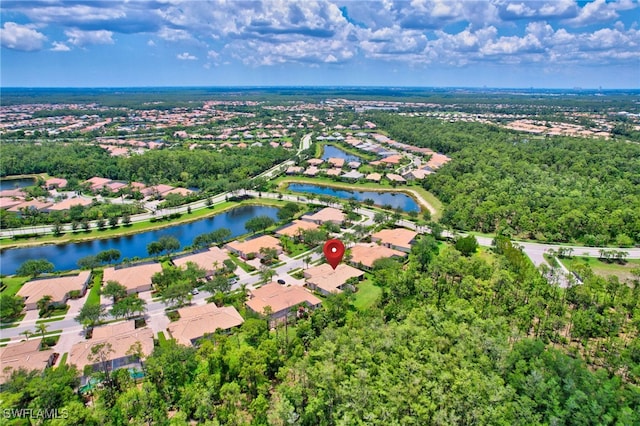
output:
[[540, 138], [479, 123], [377, 114], [399, 141], [454, 158], [424, 187], [456, 229], [587, 245], [640, 243], [640, 145]]

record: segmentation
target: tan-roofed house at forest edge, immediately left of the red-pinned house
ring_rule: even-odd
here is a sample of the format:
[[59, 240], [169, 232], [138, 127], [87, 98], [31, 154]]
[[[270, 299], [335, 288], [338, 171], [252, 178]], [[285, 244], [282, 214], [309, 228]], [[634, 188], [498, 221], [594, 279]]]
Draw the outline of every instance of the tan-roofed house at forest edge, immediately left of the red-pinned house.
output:
[[274, 322], [288, 317], [291, 310], [298, 305], [315, 309], [322, 301], [299, 286], [285, 287], [276, 282], [263, 285], [251, 292], [246, 305], [253, 312], [265, 315], [265, 308], [269, 308], [270, 319]]

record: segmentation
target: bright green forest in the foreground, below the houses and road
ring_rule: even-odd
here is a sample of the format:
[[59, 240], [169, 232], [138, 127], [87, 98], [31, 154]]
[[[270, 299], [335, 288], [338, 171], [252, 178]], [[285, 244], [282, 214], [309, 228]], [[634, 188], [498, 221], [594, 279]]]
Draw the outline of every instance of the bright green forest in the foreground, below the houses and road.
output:
[[374, 270], [367, 306], [333, 295], [269, 331], [236, 299], [239, 330], [160, 343], [137, 385], [120, 370], [80, 395], [74, 368], [21, 371], [3, 406], [58, 409], [65, 425], [640, 422], [640, 271], [626, 285], [586, 266], [565, 290], [504, 237], [464, 256], [430, 236]]

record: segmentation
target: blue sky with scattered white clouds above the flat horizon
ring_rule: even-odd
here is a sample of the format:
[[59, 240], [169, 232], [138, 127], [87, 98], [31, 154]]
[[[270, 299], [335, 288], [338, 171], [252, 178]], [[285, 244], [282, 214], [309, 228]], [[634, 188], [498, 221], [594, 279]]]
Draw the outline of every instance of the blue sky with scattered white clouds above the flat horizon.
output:
[[638, 0], [0, 2], [0, 86], [640, 87]]

